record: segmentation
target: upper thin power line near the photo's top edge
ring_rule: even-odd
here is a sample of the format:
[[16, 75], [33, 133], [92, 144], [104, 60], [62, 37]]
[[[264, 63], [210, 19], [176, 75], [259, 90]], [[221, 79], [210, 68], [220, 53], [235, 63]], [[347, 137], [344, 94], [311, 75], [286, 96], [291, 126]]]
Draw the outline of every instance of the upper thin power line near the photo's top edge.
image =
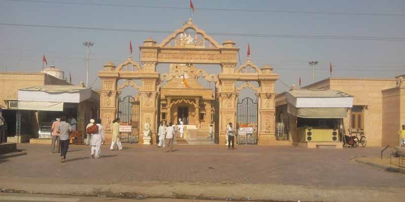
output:
[[[124, 8], [147, 8], [147, 9], [175, 9], [189, 11], [188, 7], [168, 7], [168, 6], [145, 6], [145, 5], [124, 5], [124, 4], [94, 4], [94, 3], [74, 3], [74, 2], [50, 2], [35, 0], [6, 0], [9, 2], [23, 3], [41, 3], [41, 4], [60, 4], [60, 5], [85, 5], [85, 6], [104, 6], [104, 7], [124, 7]], [[199, 11], [217, 11], [217, 12], [255, 12], [255, 13], [286, 13], [286, 14], [305, 14], [305, 15], [336, 15], [336, 16], [405, 16], [403, 13], [349, 13], [349, 12], [317, 12], [317, 11], [288, 11], [288, 10], [264, 10], [264, 9], [215, 9], [215, 8], [195, 8]]]

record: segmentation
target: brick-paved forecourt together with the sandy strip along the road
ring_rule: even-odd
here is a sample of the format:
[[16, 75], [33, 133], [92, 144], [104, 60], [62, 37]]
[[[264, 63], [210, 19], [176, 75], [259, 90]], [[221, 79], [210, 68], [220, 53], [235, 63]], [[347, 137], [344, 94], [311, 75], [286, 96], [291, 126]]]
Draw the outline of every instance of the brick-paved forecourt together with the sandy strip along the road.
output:
[[70, 145], [65, 163], [59, 154], [50, 153], [49, 145], [24, 143], [18, 148], [27, 155], [0, 159], [0, 201], [16, 193], [93, 196], [100, 201], [104, 197], [116, 201], [403, 201], [405, 192], [404, 174], [354, 161], [378, 157], [382, 147], [240, 145], [228, 150], [222, 145], [175, 145], [172, 153], [165, 153], [157, 146], [128, 144], [112, 151], [103, 145], [101, 158], [92, 159], [89, 146]]

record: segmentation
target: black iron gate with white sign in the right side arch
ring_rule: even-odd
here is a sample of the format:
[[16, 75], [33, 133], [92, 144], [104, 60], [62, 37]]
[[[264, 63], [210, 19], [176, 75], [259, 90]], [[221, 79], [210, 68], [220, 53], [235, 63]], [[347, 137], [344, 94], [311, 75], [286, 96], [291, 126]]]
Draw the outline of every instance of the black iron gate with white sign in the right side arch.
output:
[[257, 144], [258, 141], [258, 102], [245, 97], [238, 99], [236, 130], [238, 144]]

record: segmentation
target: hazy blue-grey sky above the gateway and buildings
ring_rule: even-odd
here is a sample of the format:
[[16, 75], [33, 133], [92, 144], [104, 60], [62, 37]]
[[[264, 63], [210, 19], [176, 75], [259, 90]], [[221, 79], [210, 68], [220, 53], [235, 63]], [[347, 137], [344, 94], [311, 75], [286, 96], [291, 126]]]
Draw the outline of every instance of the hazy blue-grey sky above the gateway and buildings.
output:
[[[189, 7], [189, 0], [176, 1], [52, 1], [139, 6]], [[404, 37], [405, 16], [325, 15], [302, 13], [265, 13], [236, 11], [201, 11], [214, 9], [262, 9], [272, 11], [337, 12], [337, 13], [405, 13], [405, 2], [397, 1], [230, 1], [193, 0], [196, 8], [193, 22], [206, 32], [264, 33], [292, 35]], [[189, 10], [61, 5], [0, 0], [0, 23], [60, 25], [113, 29], [175, 30], [189, 17]], [[92, 40], [90, 78], [111, 60], [118, 65], [129, 56], [129, 41], [137, 46], [147, 37], [160, 42], [169, 34], [120, 31], [94, 31], [59, 28], [13, 27], [0, 25], [0, 71], [39, 72], [42, 55], [48, 64], [55, 64], [72, 73], [73, 82], [86, 80], [86, 48], [82, 42]], [[240, 47], [242, 63], [246, 62], [248, 42], [252, 61], [269, 64], [288, 85], [311, 83], [312, 69], [308, 61], [318, 61], [316, 80], [329, 77], [329, 62], [334, 77], [394, 77], [405, 73], [405, 41], [292, 39], [272, 37], [213, 36], [222, 43], [227, 38]], [[168, 72], [159, 65], [160, 73]], [[219, 66], [201, 66], [210, 73]], [[95, 88], [100, 87], [96, 81]], [[276, 83], [278, 92], [286, 87]]]

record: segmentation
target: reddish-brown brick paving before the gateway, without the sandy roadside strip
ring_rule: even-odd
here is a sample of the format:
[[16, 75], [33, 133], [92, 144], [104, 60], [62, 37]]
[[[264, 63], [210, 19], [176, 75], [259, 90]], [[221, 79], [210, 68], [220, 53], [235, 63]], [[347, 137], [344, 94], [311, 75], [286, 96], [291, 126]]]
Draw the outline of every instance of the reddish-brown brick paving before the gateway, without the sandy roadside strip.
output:
[[380, 147], [306, 149], [290, 146], [177, 145], [173, 153], [156, 146], [102, 146], [101, 159], [89, 158], [88, 146], [70, 145], [60, 163], [47, 145], [19, 144], [28, 155], [0, 160], [0, 178], [54, 178], [75, 182], [167, 181], [271, 183], [309, 186], [403, 187], [405, 175], [349, 161], [378, 156]]

